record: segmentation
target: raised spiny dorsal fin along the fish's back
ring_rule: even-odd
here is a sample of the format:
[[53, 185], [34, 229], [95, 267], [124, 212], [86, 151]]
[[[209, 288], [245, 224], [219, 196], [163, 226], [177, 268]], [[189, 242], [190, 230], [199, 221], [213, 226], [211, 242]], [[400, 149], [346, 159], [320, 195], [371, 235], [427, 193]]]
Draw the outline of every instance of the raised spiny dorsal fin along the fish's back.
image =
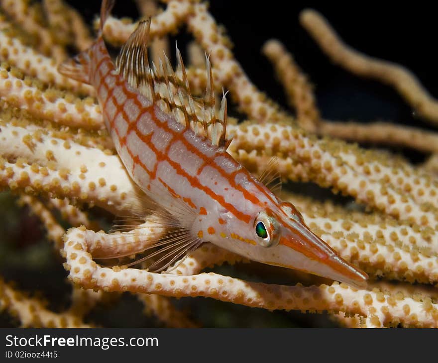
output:
[[[210, 61], [207, 62], [207, 86], [203, 98], [192, 96], [181, 52], [176, 47], [177, 67], [174, 71], [169, 58], [164, 54], [158, 65], [149, 66], [147, 46], [150, 18], [140, 22], [131, 34], [119, 56], [116, 67], [119, 74], [139, 93], [151, 99], [163, 112], [172, 115], [178, 122], [191, 127], [197, 135], [204, 136], [212, 145], [227, 147], [226, 98], [222, 96], [219, 112], [213, 84]], [[219, 117], [216, 114], [219, 114]]]

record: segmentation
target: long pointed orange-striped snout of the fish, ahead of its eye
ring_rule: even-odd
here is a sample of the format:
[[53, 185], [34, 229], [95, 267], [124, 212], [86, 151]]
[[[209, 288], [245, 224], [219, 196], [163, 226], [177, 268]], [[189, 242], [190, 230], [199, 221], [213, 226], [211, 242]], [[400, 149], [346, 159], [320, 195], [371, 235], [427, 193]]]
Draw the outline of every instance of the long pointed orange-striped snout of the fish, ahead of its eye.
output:
[[307, 226], [291, 220], [282, 226], [281, 236], [276, 246], [276, 261], [268, 264], [327, 277], [357, 289], [366, 288], [366, 272], [342, 259]]

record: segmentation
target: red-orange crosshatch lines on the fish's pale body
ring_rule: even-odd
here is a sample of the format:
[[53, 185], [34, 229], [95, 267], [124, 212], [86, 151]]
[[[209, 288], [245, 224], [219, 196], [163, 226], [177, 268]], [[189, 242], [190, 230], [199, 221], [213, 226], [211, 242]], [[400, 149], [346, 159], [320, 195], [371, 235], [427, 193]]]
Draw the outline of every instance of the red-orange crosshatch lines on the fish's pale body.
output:
[[[101, 40], [101, 42], [103, 43], [103, 40]], [[245, 188], [243, 188], [241, 185], [236, 183], [235, 177], [236, 177], [236, 175], [238, 175], [240, 173], [242, 173], [247, 178], [248, 181], [253, 182], [252, 179], [250, 178], [249, 172], [246, 169], [241, 168], [241, 166], [238, 163], [236, 163], [231, 158], [231, 156], [221, 148], [218, 149], [218, 151], [215, 153], [214, 157], [210, 157], [210, 156], [206, 155], [204, 152], [198, 150], [196, 148], [196, 146], [194, 146], [192, 143], [187, 141], [187, 139], [185, 137], [185, 132], [187, 130], [190, 130], [190, 128], [188, 126], [186, 126], [182, 132], [179, 132], [179, 131], [175, 131], [173, 128], [169, 127], [169, 125], [167, 124], [167, 120], [160, 121], [160, 119], [156, 115], [155, 106], [153, 104], [150, 104], [149, 106], [144, 107], [138, 99], [139, 95], [134, 91], [130, 91], [127, 84], [126, 84], [126, 81], [124, 81], [115, 72], [114, 64], [112, 63], [112, 60], [109, 57], [108, 52], [106, 51], [106, 48], [104, 46], [99, 46], [98, 49], [99, 49], [99, 52], [94, 53], [93, 61], [94, 61], [94, 64], [97, 64], [97, 69], [98, 69], [99, 80], [97, 80], [98, 81], [97, 83], [99, 84], [99, 87], [98, 87], [98, 90], [100, 90], [99, 94], [106, 96], [106, 97], [103, 97], [104, 98], [103, 99], [104, 114], [106, 116], [106, 119], [109, 122], [110, 129], [117, 136], [118, 143], [120, 145], [120, 150], [123, 147], [125, 147], [132, 162], [133, 162], [131, 169], [130, 169], [131, 175], [134, 175], [135, 167], [138, 166], [138, 167], [141, 167], [141, 169], [144, 170], [148, 174], [148, 176], [150, 178], [150, 180], [149, 180], [150, 182], [154, 181], [157, 179], [157, 169], [158, 169], [159, 163], [160, 162], [167, 162], [177, 172], [177, 174], [179, 176], [181, 176], [181, 177], [185, 178], [187, 181], [189, 181], [192, 187], [198, 188], [198, 189], [204, 191], [210, 197], [212, 197], [217, 202], [219, 202], [219, 204], [223, 208], [226, 208], [228, 211], [230, 211], [236, 218], [249, 224], [251, 221], [250, 215], [245, 214], [244, 212], [238, 210], [234, 205], [225, 202], [225, 198], [222, 195], [215, 193], [207, 185], [201, 184], [197, 177], [189, 175], [180, 164], [176, 163], [175, 161], [173, 161], [169, 157], [168, 151], [174, 143], [181, 142], [184, 145], [184, 147], [186, 148], [186, 150], [190, 151], [191, 153], [194, 153], [196, 156], [198, 156], [199, 158], [201, 158], [203, 160], [203, 164], [201, 165], [201, 167], [198, 169], [198, 172], [196, 173], [197, 176], [199, 176], [201, 174], [203, 168], [205, 168], [206, 166], [212, 167], [219, 173], [219, 175], [226, 178], [226, 180], [229, 182], [231, 187], [233, 187], [235, 190], [238, 190], [239, 192], [241, 192], [246, 200], [248, 200], [251, 203], [256, 204], [256, 205], [262, 205], [263, 203], [266, 204], [267, 202], [261, 202], [257, 198], [257, 196], [255, 196], [253, 193], [248, 192]], [[103, 68], [106, 68], [105, 74], [103, 74], [103, 72], [102, 72]], [[108, 87], [108, 84], [111, 83], [111, 82], [108, 82], [108, 80], [107, 80], [108, 77], [114, 78], [114, 86], [112, 88]], [[126, 101], [124, 102], [124, 104], [122, 103], [121, 105], [118, 105], [118, 102], [114, 96], [114, 91], [117, 88], [122, 91], [123, 95], [126, 97], [126, 100], [131, 100], [133, 102], [133, 104], [139, 110], [141, 110], [140, 112], [138, 112], [137, 116], [134, 119], [132, 117], [130, 117], [130, 115], [124, 109], [123, 105], [126, 104]], [[103, 89], [105, 89], [105, 91], [103, 91]], [[108, 112], [109, 101], [111, 101], [116, 108], [116, 111], [113, 113], [112, 117], [109, 117], [111, 115], [109, 115], [109, 112]], [[125, 120], [125, 122], [128, 123], [127, 130], [126, 130], [124, 136], [120, 135], [119, 127], [115, 124], [115, 120], [119, 114], [121, 114], [123, 120]], [[145, 115], [147, 115], [147, 117], [145, 117]], [[151, 129], [151, 131], [148, 134], [143, 135], [139, 131], [138, 123], [139, 122], [148, 122], [148, 121], [152, 122], [154, 128]], [[132, 148], [129, 145], [129, 142], [127, 142], [128, 135], [131, 132], [133, 132], [144, 143], [144, 145], [147, 145], [147, 147], [155, 154], [156, 162], [155, 162], [155, 166], [154, 166], [153, 170], [149, 170], [140, 161], [140, 158], [137, 155], [137, 153], [135, 152], [135, 150], [132, 150]], [[152, 142], [152, 136], [153, 136], [154, 132], [167, 132], [167, 133], [170, 133], [172, 135], [171, 140], [168, 142], [167, 146], [165, 147], [165, 149], [163, 151], [159, 150]], [[223, 158], [226, 158], [227, 161], [232, 163], [232, 165], [235, 167], [234, 171], [232, 171], [230, 174], [227, 174], [223, 170], [223, 168], [216, 163], [215, 159], [217, 156], [221, 156]], [[128, 166], [126, 166], [126, 167], [128, 167]], [[158, 181], [160, 181], [161, 184], [164, 187], [166, 187], [172, 195], [174, 195], [175, 197], [180, 197], [180, 195], [177, 194], [161, 178], [158, 177]], [[268, 199], [275, 206], [277, 206], [279, 208], [279, 210], [281, 210], [282, 213], [286, 216], [286, 213], [280, 208], [280, 205], [278, 204], [278, 202], [276, 200], [274, 200], [271, 197], [271, 195], [269, 195], [266, 192], [266, 188], [264, 188], [259, 183], [253, 183], [253, 184], [254, 184], [254, 186], [256, 186], [256, 188], [260, 192], [262, 192], [262, 194], [266, 197], [266, 199]], [[147, 186], [147, 187], [149, 187], [149, 186]], [[229, 188], [227, 188], [227, 189], [229, 189]], [[196, 204], [190, 198], [184, 197], [183, 201], [186, 202], [190, 207], [197, 208]], [[207, 214], [205, 207], [200, 207], [199, 214], [202, 214], [202, 215]], [[219, 224], [222, 224], [222, 223], [224, 223], [224, 221], [222, 219], [220, 219]], [[283, 222], [281, 219], [280, 219], [280, 223], [283, 224], [283, 226], [287, 226], [287, 224], [285, 222]], [[207, 231], [210, 235], [213, 235], [216, 232], [215, 228], [213, 226], [209, 226], [207, 228]], [[297, 237], [299, 240], [301, 240], [301, 241], [306, 240], [306, 237], [303, 234], [301, 234], [299, 231], [296, 231], [296, 233], [297, 233]], [[199, 231], [198, 237], [203, 238], [203, 236], [204, 236], [203, 231]], [[255, 241], [253, 241], [253, 240], [249, 241], [247, 239], [244, 239], [244, 238], [238, 236], [235, 233], [231, 233], [230, 237], [233, 239], [237, 239], [239, 241], [249, 242], [249, 243], [255, 245]], [[320, 248], [317, 249], [316, 253], [313, 253], [308, 248], [306, 248], [307, 246], [305, 246], [306, 245], [305, 243], [304, 244], [297, 243], [297, 241], [289, 241], [286, 239], [281, 239], [280, 244], [284, 244], [286, 246], [292, 247], [295, 250], [298, 250], [299, 252], [301, 252], [302, 254], [304, 254], [305, 256], [307, 256], [311, 259], [321, 258], [321, 254], [323, 254], [323, 255], [325, 254], [325, 251], [323, 249], [320, 249]], [[329, 260], [328, 260], [328, 262], [329, 262]], [[354, 276], [354, 272], [350, 272], [350, 277], [353, 277], [353, 276]]]

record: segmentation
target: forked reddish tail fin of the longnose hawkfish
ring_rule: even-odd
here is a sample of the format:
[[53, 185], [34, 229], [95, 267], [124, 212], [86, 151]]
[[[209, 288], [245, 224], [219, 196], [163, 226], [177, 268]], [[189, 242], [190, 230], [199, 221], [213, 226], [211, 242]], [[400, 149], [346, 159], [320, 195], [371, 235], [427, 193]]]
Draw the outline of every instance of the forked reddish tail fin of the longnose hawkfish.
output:
[[101, 6], [101, 24], [98, 39], [92, 46], [73, 58], [66, 60], [58, 66], [58, 72], [62, 75], [86, 84], [91, 83], [90, 79], [90, 51], [96, 43], [102, 41], [102, 34], [105, 22], [107, 21], [110, 11], [114, 6], [114, 0], [103, 0]]

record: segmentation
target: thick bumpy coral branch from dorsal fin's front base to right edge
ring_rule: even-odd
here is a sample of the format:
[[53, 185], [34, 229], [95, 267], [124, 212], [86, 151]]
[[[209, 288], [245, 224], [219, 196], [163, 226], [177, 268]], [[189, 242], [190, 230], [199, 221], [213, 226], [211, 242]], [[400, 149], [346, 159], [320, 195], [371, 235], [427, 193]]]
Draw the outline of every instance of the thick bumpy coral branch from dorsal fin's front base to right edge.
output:
[[[336, 141], [317, 140], [290, 126], [239, 125], [230, 128], [230, 133], [235, 135], [230, 152], [247, 164], [257, 157], [257, 152], [268, 151], [268, 157], [281, 157], [280, 172], [292, 180], [312, 180], [331, 186], [389, 215], [419, 225], [434, 228], [437, 224], [436, 207], [425, 205], [423, 198], [428, 192], [429, 201], [436, 197], [436, 182], [409, 173], [407, 165], [405, 173], [391, 166], [388, 160], [379, 162], [360, 149]], [[254, 145], [257, 152], [252, 157], [242, 156], [241, 149], [249, 151]], [[268, 157], [264, 157], [265, 165]], [[406, 185], [407, 191], [401, 190], [399, 184]]]

